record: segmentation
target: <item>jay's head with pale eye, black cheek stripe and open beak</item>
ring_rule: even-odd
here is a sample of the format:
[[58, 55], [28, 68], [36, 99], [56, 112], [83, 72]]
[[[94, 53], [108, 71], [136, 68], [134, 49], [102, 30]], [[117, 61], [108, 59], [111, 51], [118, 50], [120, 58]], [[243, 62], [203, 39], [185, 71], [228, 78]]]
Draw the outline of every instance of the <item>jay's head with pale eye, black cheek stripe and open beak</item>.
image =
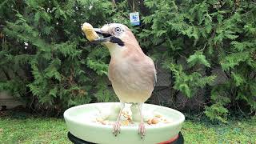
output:
[[101, 37], [95, 39], [93, 42], [105, 44], [110, 50], [110, 53], [130, 49], [131, 47], [138, 47], [140, 49], [134, 34], [125, 25], [111, 23], [102, 26], [102, 28], [94, 28], [94, 30]]

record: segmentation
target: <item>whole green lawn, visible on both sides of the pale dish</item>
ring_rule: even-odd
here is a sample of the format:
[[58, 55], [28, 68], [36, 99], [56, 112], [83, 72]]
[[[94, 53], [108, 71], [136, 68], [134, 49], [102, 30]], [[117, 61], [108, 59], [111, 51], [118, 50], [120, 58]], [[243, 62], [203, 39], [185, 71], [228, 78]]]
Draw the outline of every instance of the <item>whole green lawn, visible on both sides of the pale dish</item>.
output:
[[[0, 143], [70, 143], [62, 118], [0, 117]], [[256, 118], [213, 125], [186, 121], [186, 143], [256, 143]]]

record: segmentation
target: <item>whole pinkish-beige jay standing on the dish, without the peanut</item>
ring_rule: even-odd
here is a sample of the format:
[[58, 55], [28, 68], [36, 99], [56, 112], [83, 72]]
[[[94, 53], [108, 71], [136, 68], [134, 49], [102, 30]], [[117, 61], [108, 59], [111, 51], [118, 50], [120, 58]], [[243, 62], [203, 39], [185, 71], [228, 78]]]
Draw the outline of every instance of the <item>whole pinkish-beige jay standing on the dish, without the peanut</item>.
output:
[[157, 71], [154, 61], [142, 51], [132, 31], [120, 23], [110, 23], [102, 28], [94, 28], [97, 34], [91, 40], [94, 43], [102, 43], [110, 51], [110, 64], [108, 78], [114, 89], [114, 93], [121, 102], [121, 108], [113, 126], [113, 134], [120, 134], [120, 117], [126, 103], [138, 107], [140, 122], [138, 134], [143, 138], [146, 128], [143, 121], [142, 105], [150, 98], [157, 82]]

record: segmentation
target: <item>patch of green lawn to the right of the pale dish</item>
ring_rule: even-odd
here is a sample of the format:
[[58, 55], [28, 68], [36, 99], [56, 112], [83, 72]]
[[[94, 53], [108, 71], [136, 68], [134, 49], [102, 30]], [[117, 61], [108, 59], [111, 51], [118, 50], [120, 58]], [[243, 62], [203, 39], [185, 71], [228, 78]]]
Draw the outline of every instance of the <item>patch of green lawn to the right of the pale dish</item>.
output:
[[256, 144], [256, 118], [213, 125], [186, 121], [182, 128], [186, 143]]

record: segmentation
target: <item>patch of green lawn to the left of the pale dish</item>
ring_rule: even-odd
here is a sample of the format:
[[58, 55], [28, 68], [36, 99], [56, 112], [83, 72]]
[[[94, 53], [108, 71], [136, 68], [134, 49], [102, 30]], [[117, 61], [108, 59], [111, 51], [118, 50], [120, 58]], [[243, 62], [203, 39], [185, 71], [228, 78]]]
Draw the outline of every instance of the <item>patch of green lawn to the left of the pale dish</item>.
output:
[[58, 118], [0, 118], [0, 143], [71, 143]]

